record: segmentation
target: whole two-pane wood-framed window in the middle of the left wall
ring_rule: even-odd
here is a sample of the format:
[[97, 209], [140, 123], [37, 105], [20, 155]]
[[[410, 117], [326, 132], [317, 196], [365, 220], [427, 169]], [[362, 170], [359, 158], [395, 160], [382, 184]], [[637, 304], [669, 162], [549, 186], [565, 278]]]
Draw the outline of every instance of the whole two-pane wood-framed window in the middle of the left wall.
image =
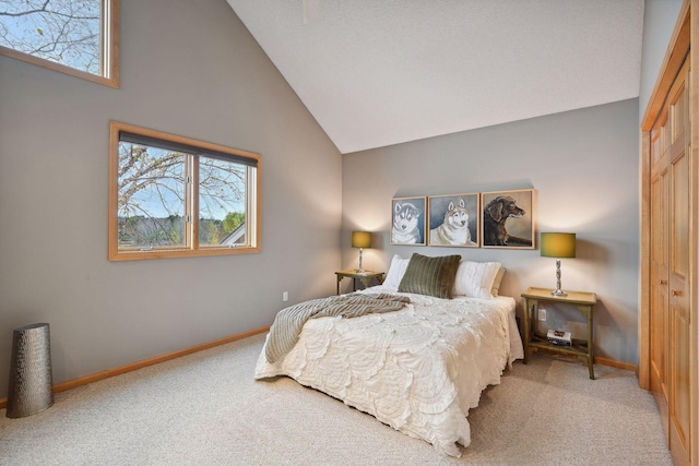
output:
[[262, 157], [111, 122], [109, 260], [260, 251]]

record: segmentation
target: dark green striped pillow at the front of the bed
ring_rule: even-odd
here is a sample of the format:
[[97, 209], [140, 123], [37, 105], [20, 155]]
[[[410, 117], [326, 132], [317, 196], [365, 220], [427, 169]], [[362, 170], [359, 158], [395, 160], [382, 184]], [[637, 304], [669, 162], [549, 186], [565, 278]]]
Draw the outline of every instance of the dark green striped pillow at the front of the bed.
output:
[[451, 299], [461, 255], [428, 258], [413, 254], [398, 287], [401, 292], [415, 292]]

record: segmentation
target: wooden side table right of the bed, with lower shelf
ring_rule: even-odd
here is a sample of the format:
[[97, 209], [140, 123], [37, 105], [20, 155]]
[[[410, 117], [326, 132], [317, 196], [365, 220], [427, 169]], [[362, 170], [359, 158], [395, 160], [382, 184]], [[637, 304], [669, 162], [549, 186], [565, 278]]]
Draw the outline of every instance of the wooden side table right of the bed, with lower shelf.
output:
[[[524, 310], [524, 363], [532, 351], [544, 349], [550, 353], [574, 356], [590, 369], [590, 379], [594, 379], [594, 349], [592, 309], [597, 302], [594, 292], [568, 291], [568, 296], [554, 296], [552, 288], [526, 288], [522, 294], [525, 301]], [[538, 303], [559, 302], [571, 304], [588, 318], [588, 339], [572, 339], [570, 346], [555, 345], [548, 342], [546, 335], [536, 332], [538, 320]]]

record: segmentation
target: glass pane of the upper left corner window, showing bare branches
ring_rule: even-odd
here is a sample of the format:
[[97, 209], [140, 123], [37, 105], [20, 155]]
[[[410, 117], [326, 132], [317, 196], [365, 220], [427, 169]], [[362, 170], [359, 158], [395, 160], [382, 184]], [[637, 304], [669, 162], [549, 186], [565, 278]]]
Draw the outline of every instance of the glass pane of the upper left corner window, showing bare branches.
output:
[[0, 46], [102, 75], [100, 0], [0, 0]]

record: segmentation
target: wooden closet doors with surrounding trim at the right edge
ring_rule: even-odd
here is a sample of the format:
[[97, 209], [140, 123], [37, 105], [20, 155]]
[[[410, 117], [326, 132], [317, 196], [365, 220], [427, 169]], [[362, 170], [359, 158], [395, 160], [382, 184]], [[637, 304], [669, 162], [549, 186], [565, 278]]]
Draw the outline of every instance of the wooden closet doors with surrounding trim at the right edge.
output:
[[639, 381], [676, 466], [699, 466], [698, 17], [699, 0], [685, 1], [641, 124]]

